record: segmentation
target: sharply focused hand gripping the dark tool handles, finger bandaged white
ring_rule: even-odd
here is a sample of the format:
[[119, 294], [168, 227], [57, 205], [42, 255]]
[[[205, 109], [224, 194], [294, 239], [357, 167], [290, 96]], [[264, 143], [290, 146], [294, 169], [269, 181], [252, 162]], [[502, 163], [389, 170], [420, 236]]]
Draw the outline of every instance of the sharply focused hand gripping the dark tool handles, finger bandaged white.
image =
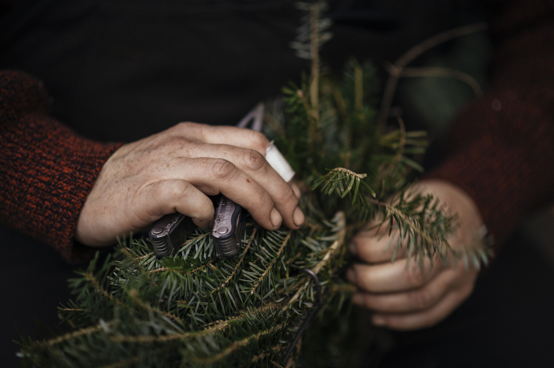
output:
[[200, 227], [211, 223], [208, 195], [223, 193], [268, 230], [304, 223], [300, 192], [264, 158], [269, 140], [237, 127], [179, 123], [121, 146], [105, 162], [75, 230], [90, 246], [114, 243], [163, 215], [180, 212]]

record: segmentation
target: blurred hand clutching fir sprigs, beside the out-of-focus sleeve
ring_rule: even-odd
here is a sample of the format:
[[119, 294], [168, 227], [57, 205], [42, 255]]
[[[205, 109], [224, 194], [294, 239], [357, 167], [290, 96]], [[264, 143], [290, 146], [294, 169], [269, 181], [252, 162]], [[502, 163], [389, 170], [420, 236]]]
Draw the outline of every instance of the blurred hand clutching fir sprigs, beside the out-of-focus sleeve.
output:
[[[427, 180], [419, 185], [458, 213], [460, 227], [449, 239], [450, 245], [461, 249], [475, 241], [483, 220], [471, 198], [448, 182]], [[347, 272], [348, 280], [358, 287], [352, 301], [375, 312], [374, 324], [398, 330], [430, 327], [448, 317], [473, 292], [478, 274], [474, 267], [466, 268], [461, 261], [446, 265], [439, 259], [431, 267], [425, 259], [423, 273], [413, 261], [406, 269], [406, 254], [391, 263], [394, 247], [383, 251], [388, 234], [379, 240], [375, 233], [361, 232], [353, 238], [351, 251], [366, 263], [355, 264]]]

